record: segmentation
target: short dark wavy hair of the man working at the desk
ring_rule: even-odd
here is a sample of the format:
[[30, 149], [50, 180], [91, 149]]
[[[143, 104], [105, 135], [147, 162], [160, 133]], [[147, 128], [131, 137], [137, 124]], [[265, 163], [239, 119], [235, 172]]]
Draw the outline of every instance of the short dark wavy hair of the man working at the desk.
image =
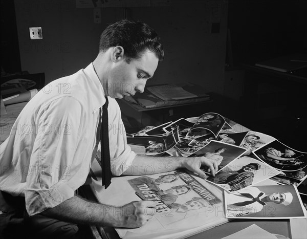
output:
[[99, 52], [116, 46], [123, 47], [127, 63], [142, 57], [147, 49], [155, 53], [159, 61], [164, 58], [158, 34], [141, 21], [122, 19], [106, 27], [100, 36]]

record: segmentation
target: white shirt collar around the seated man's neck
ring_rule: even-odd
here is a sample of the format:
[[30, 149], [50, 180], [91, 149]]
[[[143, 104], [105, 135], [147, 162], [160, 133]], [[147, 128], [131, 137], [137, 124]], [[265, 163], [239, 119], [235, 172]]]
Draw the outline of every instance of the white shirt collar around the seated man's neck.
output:
[[93, 102], [93, 113], [99, 110], [102, 105], [105, 103], [105, 93], [102, 87], [102, 84], [95, 72], [93, 62], [87, 66], [83, 72], [90, 78], [91, 84], [90, 84], [90, 89], [91, 89], [91, 94], [90, 97], [92, 98]]

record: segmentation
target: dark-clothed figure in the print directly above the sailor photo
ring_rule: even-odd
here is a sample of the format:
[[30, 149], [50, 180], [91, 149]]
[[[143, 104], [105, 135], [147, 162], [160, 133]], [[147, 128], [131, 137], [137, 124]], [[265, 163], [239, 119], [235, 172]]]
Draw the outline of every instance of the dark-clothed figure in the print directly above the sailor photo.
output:
[[236, 191], [250, 186], [254, 180], [254, 172], [260, 169], [260, 164], [250, 163], [239, 170], [223, 170], [218, 172], [214, 178], [208, 180], [216, 184], [228, 184], [229, 191]]

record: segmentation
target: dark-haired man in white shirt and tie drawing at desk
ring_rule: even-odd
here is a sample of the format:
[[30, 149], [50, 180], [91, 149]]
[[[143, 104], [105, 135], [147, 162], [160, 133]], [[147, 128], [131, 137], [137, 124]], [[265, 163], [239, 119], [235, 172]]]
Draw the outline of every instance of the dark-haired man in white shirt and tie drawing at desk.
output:
[[[71, 228], [66, 230], [64, 237], [67, 238], [75, 236], [76, 224], [135, 228], [152, 218], [156, 206], [153, 202], [131, 202], [117, 208], [75, 195], [75, 190], [84, 184], [97, 152], [96, 136], [99, 136], [100, 118], [104, 118], [104, 113], [102, 116], [100, 113], [103, 105], [109, 111], [108, 141], [113, 175], [143, 175], [146, 170], [140, 165], [148, 164], [155, 169], [152, 173], [184, 167], [206, 178], [200, 169], [204, 164], [214, 174], [215, 162], [204, 157], [137, 156], [126, 143], [115, 98], [142, 93], [163, 57], [162, 45], [153, 29], [136, 21], [118, 21], [101, 34], [98, 56], [89, 66], [52, 81], [25, 106], [1, 145], [3, 233], [22, 232], [26, 236], [28, 230], [44, 238], [60, 237], [64, 236], [63, 228]], [[32, 131], [20, 134], [20, 125], [31, 125]], [[134, 170], [125, 171], [127, 168]], [[20, 208], [10, 205], [16, 198], [24, 202]], [[151, 212], [146, 213], [148, 208]], [[133, 213], [113, 213], [116, 210]], [[10, 219], [16, 217], [18, 221], [14, 223], [18, 230], [9, 230]], [[50, 223], [41, 226], [41, 221]], [[27, 227], [23, 228], [24, 223]]]

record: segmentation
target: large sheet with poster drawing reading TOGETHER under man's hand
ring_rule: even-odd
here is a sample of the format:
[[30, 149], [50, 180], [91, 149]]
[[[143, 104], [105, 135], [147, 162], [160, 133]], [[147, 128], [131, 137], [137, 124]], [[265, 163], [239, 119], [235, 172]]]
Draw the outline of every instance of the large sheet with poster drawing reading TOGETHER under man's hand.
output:
[[121, 206], [142, 199], [158, 205], [142, 227], [116, 228], [122, 238], [185, 237], [228, 221], [223, 189], [184, 170], [117, 177], [107, 189], [93, 180], [92, 187], [100, 203]]

